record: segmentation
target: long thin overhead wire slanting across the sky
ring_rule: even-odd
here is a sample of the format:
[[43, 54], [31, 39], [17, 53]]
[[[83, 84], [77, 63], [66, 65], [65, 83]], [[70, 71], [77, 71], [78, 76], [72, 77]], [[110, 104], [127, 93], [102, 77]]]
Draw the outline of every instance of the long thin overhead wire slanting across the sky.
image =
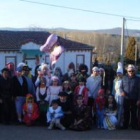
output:
[[87, 10], [87, 9], [67, 7], [67, 6], [62, 6], [62, 5], [54, 5], [54, 4], [48, 4], [48, 3], [35, 2], [35, 1], [30, 1], [30, 0], [20, 0], [20, 1], [28, 2], [28, 3], [33, 3], [33, 4], [47, 5], [47, 6], [57, 7], [57, 8], [63, 8], [63, 9], [69, 9], [69, 10], [76, 10], [76, 11], [82, 11], [82, 12], [102, 14], [102, 15], [107, 15], [107, 16], [125, 17], [125, 18], [128, 18], [130, 20], [134, 20], [134, 19], [135, 20], [140, 20], [140, 17], [131, 17], [131, 16], [125, 16], [125, 15], [104, 13], [104, 12], [92, 11], [92, 10]]

